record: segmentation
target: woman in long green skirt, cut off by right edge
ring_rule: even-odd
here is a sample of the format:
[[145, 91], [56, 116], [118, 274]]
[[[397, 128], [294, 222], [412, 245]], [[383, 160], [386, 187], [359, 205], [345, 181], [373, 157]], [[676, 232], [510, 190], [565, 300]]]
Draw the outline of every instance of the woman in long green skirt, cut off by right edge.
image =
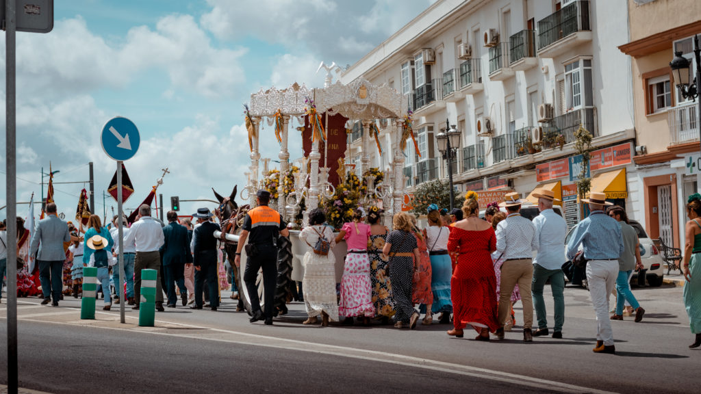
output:
[[686, 204], [686, 245], [684, 245], [684, 306], [689, 315], [689, 327], [696, 339], [689, 348], [701, 346], [701, 194], [694, 193]]

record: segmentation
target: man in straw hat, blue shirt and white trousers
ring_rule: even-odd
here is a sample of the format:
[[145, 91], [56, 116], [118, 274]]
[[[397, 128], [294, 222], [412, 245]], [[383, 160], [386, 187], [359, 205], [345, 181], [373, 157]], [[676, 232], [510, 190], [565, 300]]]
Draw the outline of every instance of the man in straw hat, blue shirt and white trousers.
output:
[[620, 224], [604, 213], [604, 205], [613, 205], [606, 202], [606, 194], [592, 191], [590, 197], [582, 201], [589, 204], [591, 213], [573, 231], [567, 244], [567, 258], [574, 259], [579, 245], [583, 246], [589, 294], [597, 314], [597, 346], [594, 353], [615, 354], [611, 319], [608, 317], [608, 297], [613, 292], [618, 277], [618, 257], [625, 246]]

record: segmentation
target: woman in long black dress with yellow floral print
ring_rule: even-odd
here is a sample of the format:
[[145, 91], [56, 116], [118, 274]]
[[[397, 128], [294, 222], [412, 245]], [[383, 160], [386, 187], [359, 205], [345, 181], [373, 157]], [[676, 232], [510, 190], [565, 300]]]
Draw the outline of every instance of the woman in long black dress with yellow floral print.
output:
[[392, 284], [387, 275], [389, 259], [383, 254], [387, 227], [380, 223], [382, 210], [372, 206], [367, 212], [367, 222], [370, 224], [370, 245], [367, 249], [370, 258], [370, 280], [372, 281], [372, 304], [375, 306], [376, 316], [384, 323], [389, 321], [394, 314], [394, 299], [392, 297]]

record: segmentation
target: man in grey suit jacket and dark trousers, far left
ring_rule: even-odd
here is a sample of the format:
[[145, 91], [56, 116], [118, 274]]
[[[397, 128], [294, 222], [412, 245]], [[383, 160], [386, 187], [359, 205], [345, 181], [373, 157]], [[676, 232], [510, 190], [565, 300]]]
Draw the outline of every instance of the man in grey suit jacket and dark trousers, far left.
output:
[[46, 204], [46, 214], [47, 217], [36, 226], [29, 255], [39, 263], [39, 280], [44, 297], [41, 305], [48, 304], [53, 295], [53, 306], [58, 306], [63, 290], [63, 261], [66, 259], [63, 243], [71, 240], [71, 234], [68, 224], [56, 216], [55, 203]]

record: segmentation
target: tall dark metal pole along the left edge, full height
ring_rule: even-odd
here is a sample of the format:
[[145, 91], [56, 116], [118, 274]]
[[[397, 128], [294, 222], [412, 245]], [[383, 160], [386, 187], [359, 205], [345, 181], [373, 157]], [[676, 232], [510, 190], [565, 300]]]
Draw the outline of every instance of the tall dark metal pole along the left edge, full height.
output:
[[[15, 118], [15, 0], [5, 3], [5, 103], [6, 103], [6, 200], [7, 200], [7, 388], [8, 393], [18, 392], [19, 378], [17, 365], [17, 264], [13, 261], [17, 255], [17, 123]], [[43, 175], [43, 171], [41, 172]], [[43, 181], [43, 178], [42, 178]], [[42, 186], [43, 199], [43, 186]], [[34, 229], [32, 229], [34, 231]]]

